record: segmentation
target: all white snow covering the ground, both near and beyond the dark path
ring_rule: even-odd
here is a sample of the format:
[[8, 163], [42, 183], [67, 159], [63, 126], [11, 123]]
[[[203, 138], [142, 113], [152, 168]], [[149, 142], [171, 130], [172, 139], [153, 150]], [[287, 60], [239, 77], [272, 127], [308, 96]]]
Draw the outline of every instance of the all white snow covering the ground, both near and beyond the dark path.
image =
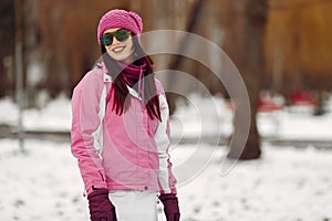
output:
[[[331, 101], [330, 113], [319, 117], [288, 110], [260, 113], [260, 133], [280, 139], [331, 140]], [[215, 110], [212, 102], [218, 104]], [[232, 114], [224, 99], [193, 95], [189, 104], [179, 104], [172, 119], [173, 136], [195, 137], [216, 130], [231, 134]], [[0, 109], [0, 124], [14, 126], [15, 105], [2, 99]], [[68, 131], [70, 120], [70, 101], [64, 97], [23, 114], [24, 127], [30, 130]], [[24, 146], [27, 152], [22, 154], [17, 140], [0, 139], [0, 221], [89, 220], [70, 144], [29, 139]], [[225, 159], [225, 149], [204, 143], [173, 144], [181, 220], [332, 220], [332, 149], [263, 144], [259, 160], [238, 161], [221, 175], [222, 168], [234, 164]], [[164, 221], [160, 204], [158, 209]]]

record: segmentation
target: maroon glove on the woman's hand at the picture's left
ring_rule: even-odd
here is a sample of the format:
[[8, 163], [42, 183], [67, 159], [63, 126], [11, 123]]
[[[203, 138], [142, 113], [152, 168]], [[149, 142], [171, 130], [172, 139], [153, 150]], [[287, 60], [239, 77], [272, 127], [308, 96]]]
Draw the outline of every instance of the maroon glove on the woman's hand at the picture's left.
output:
[[107, 189], [95, 189], [87, 196], [92, 221], [117, 221], [115, 208], [108, 199]]

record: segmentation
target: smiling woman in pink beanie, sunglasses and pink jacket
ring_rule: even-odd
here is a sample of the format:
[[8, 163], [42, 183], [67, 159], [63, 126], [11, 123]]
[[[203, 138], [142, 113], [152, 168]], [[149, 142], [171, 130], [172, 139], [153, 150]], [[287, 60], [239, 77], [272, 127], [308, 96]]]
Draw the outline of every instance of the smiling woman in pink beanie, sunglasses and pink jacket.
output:
[[142, 27], [135, 12], [105, 13], [97, 28], [101, 63], [73, 92], [71, 148], [93, 221], [156, 221], [157, 197], [167, 220], [179, 220], [168, 106], [139, 44]]

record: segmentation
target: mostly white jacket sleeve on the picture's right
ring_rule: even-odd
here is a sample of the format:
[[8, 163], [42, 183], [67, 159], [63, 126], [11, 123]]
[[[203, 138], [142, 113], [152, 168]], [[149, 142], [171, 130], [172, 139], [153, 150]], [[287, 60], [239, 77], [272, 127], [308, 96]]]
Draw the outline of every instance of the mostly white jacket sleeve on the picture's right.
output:
[[169, 109], [164, 94], [159, 95], [162, 122], [158, 124], [155, 141], [159, 156], [159, 192], [176, 193], [176, 179], [172, 171], [172, 162], [169, 160]]

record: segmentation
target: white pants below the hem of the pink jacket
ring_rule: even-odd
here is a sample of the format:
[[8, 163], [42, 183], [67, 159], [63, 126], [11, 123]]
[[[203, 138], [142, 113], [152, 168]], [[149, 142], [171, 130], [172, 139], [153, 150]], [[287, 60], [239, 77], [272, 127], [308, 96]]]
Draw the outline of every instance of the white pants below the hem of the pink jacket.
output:
[[157, 221], [157, 192], [116, 190], [110, 192], [118, 220]]

